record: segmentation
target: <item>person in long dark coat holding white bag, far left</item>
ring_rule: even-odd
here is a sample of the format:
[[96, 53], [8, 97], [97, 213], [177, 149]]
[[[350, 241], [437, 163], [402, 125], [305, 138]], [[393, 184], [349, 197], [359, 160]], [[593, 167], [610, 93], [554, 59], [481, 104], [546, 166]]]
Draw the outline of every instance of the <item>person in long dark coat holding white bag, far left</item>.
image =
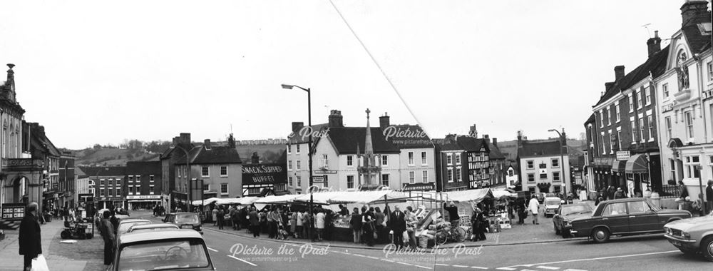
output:
[[37, 203], [27, 205], [25, 217], [20, 223], [19, 245], [20, 255], [25, 256], [24, 270], [32, 268], [32, 259], [42, 254], [42, 242], [40, 240], [40, 224], [37, 222]]

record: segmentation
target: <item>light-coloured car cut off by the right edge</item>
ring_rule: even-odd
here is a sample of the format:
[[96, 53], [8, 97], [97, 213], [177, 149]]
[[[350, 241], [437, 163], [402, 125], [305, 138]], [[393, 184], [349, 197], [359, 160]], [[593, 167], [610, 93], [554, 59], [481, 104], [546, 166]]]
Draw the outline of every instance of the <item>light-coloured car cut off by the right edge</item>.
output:
[[664, 226], [665, 237], [686, 254], [701, 253], [713, 262], [713, 213], [688, 218]]

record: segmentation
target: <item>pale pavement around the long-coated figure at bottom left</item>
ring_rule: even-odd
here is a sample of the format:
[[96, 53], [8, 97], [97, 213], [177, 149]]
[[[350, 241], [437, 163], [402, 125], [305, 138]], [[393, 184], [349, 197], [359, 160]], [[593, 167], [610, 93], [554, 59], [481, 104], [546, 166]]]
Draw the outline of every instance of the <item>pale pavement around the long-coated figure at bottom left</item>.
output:
[[[101, 238], [76, 240], [76, 243], [60, 243], [60, 232], [64, 229], [61, 219], [41, 225], [42, 255], [50, 270], [101, 270], [103, 265], [103, 245]], [[23, 257], [19, 255], [18, 230], [5, 230], [6, 237], [0, 241], [0, 271], [22, 270]], [[97, 234], [98, 235], [98, 234]], [[99, 258], [87, 255], [98, 252]], [[98, 265], [97, 265], [98, 263]]]

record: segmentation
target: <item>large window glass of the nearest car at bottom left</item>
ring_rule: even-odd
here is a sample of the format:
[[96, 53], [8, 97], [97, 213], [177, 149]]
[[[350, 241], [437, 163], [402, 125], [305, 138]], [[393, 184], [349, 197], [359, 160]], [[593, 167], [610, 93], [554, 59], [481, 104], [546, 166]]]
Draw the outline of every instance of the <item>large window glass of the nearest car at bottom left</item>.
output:
[[205, 244], [199, 240], [159, 240], [122, 247], [117, 270], [180, 270], [208, 267]]

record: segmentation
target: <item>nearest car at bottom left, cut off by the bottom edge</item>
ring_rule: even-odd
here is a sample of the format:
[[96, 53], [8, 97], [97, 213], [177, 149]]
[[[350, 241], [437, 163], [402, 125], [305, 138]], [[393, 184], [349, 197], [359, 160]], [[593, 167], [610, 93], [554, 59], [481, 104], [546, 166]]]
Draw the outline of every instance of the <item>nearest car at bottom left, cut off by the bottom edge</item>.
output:
[[107, 270], [214, 270], [205, 240], [195, 230], [130, 232], [118, 237]]

